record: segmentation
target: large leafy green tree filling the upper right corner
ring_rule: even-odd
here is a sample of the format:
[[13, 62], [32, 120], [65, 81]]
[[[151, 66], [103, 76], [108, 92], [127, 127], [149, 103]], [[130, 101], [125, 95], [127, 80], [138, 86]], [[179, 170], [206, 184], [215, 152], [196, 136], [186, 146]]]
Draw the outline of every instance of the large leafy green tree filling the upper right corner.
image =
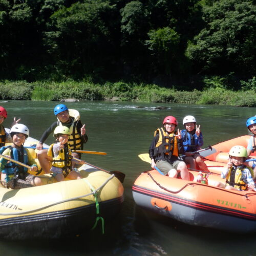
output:
[[206, 71], [255, 70], [256, 18], [250, 0], [215, 1], [204, 6], [206, 27], [188, 44], [186, 55]]

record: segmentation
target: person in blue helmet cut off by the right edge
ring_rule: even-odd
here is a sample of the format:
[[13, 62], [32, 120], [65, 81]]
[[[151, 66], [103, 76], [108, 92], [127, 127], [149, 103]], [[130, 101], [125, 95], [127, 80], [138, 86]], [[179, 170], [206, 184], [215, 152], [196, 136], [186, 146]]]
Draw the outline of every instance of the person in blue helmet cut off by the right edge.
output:
[[[250, 156], [252, 152], [256, 151], [256, 116], [250, 117], [246, 121], [246, 126], [248, 130], [252, 133], [252, 136], [250, 137], [250, 140], [246, 149], [247, 155]], [[253, 169], [253, 173], [254, 173], [253, 180], [256, 181], [256, 159], [255, 161], [245, 162], [244, 164]]]

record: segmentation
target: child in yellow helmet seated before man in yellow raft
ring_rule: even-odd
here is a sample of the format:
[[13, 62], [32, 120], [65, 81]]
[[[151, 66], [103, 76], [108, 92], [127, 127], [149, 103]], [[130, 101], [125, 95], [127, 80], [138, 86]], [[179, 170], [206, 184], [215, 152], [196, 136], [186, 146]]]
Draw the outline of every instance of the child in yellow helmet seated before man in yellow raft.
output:
[[[63, 181], [66, 177], [71, 180], [82, 178], [73, 169], [75, 161], [72, 160], [70, 145], [67, 143], [70, 136], [69, 132], [68, 127], [57, 126], [53, 133], [56, 143], [51, 144], [47, 152], [49, 160], [52, 161], [51, 172], [57, 181]], [[81, 162], [83, 161], [81, 160]]]

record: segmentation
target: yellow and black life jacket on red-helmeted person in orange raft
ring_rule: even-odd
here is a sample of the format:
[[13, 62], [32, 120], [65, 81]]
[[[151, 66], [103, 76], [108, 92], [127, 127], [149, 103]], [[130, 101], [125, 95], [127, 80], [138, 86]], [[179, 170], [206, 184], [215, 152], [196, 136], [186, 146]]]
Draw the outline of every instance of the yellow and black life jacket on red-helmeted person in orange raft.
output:
[[164, 129], [158, 128], [154, 136], [159, 134], [158, 142], [155, 146], [154, 157], [162, 156], [162, 159], [170, 158], [171, 156], [179, 156], [178, 141], [176, 132], [167, 134]]

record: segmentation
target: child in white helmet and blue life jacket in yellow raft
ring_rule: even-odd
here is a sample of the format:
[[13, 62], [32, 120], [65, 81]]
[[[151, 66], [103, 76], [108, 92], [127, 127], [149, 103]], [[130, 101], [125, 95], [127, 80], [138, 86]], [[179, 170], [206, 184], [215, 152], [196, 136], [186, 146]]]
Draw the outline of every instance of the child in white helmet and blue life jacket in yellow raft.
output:
[[[10, 130], [12, 145], [1, 148], [4, 156], [8, 156], [16, 161], [31, 165], [31, 170], [36, 172], [37, 165], [27, 148], [23, 144], [29, 136], [29, 129], [24, 124], [15, 124]], [[28, 169], [17, 163], [13, 163], [4, 158], [0, 160], [1, 180], [6, 181], [6, 186], [12, 189], [19, 189], [41, 185], [41, 179], [28, 174]]]

